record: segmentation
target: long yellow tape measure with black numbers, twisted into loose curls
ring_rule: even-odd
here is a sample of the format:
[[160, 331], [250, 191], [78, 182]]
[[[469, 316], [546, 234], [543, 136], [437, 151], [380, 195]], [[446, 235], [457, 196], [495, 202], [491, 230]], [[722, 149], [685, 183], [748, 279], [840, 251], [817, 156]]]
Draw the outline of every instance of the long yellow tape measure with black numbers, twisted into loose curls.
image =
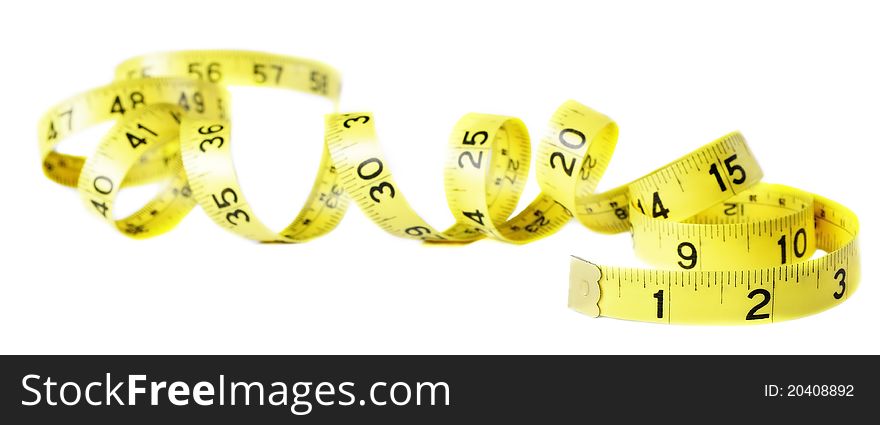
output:
[[[465, 115], [449, 137], [444, 182], [456, 223], [425, 222], [398, 189], [369, 113], [326, 117], [324, 154], [305, 205], [281, 231], [263, 225], [239, 187], [230, 155], [227, 85], [323, 96], [340, 77], [319, 62], [242, 51], [184, 51], [123, 62], [116, 82], [45, 114], [46, 176], [76, 186], [87, 208], [133, 238], [172, 229], [196, 204], [221, 227], [260, 242], [304, 242], [336, 227], [348, 200], [387, 232], [431, 243], [492, 238], [526, 243], [572, 217], [605, 233], [631, 231], [636, 254], [658, 269], [600, 266], [573, 257], [569, 306], [590, 316], [657, 323], [745, 324], [801, 317], [846, 300], [859, 282], [858, 220], [795, 188], [760, 183], [762, 171], [734, 132], [630, 184], [594, 193], [617, 143], [608, 117], [575, 101], [552, 116], [537, 152], [542, 193], [511, 217], [531, 160], [517, 118]], [[89, 158], [55, 150], [99, 122], [114, 127]], [[163, 188], [124, 218], [120, 188]], [[826, 254], [813, 258], [816, 249]]]

